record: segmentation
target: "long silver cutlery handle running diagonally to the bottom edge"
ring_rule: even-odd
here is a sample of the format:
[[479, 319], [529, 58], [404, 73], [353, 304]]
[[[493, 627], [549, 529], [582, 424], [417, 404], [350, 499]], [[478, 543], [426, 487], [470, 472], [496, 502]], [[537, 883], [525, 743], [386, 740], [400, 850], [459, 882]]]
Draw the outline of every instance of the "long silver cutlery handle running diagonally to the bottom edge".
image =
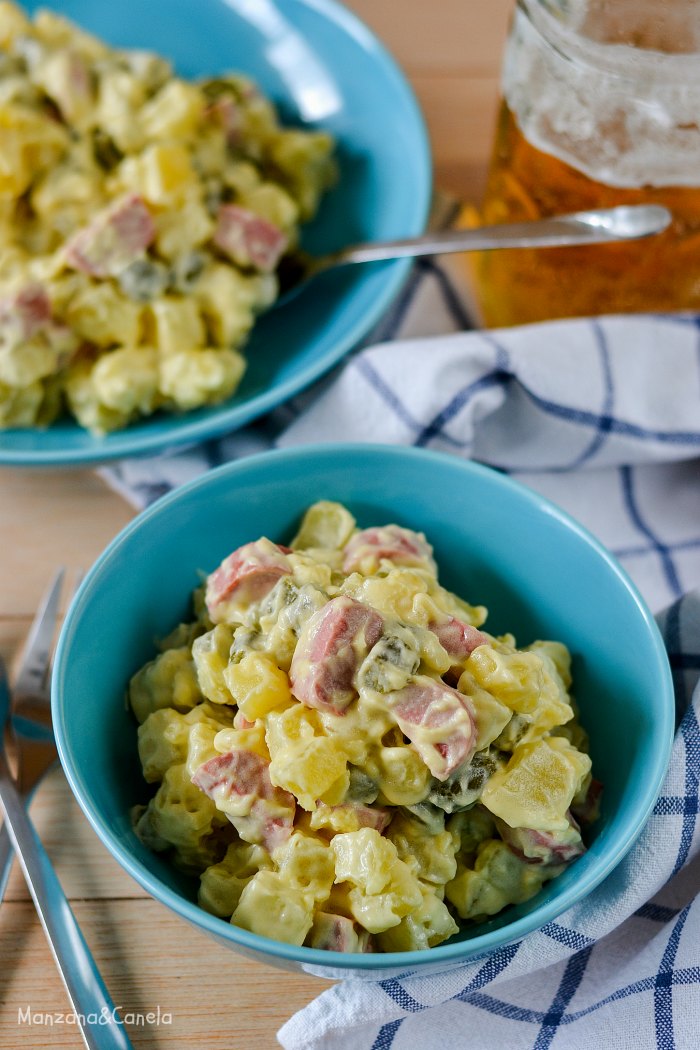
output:
[[[0, 681], [0, 688], [2, 682]], [[88, 1050], [132, 1050], [0, 746], [0, 811]]]

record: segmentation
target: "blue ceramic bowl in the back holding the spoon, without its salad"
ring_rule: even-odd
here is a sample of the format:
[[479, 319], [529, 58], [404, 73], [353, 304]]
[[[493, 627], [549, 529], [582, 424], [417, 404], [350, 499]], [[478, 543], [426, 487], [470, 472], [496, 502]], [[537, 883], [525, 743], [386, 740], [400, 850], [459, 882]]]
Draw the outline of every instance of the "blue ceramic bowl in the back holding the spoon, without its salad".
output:
[[[114, 45], [157, 50], [184, 77], [245, 71], [289, 123], [330, 131], [340, 177], [304, 229], [309, 251], [424, 229], [431, 165], [416, 100], [382, 45], [335, 0], [33, 0], [26, 6], [58, 9]], [[324, 274], [261, 317], [246, 348], [243, 381], [225, 404], [160, 414], [105, 438], [68, 420], [47, 430], [0, 432], [0, 463], [96, 463], [242, 426], [336, 364], [379, 319], [409, 266], [402, 259]]]

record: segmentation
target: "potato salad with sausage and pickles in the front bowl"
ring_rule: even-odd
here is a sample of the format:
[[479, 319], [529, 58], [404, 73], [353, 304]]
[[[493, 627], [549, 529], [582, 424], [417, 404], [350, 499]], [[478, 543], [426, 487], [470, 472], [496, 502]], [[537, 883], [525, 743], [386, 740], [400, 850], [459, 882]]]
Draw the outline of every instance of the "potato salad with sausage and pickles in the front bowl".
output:
[[195, 592], [131, 679], [140, 838], [203, 908], [331, 951], [430, 948], [527, 901], [596, 815], [558, 642], [518, 649], [430, 545], [312, 506]]

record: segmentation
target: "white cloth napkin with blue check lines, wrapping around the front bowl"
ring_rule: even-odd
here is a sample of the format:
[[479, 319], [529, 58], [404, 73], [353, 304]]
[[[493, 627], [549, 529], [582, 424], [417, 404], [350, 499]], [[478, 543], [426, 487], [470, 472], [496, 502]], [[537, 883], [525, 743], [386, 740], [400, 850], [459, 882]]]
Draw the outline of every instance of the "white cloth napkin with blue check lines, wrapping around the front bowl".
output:
[[375, 333], [384, 341], [257, 424], [102, 472], [142, 507], [263, 448], [415, 444], [489, 463], [587, 525], [654, 610], [669, 606], [659, 618], [679, 729], [638, 843], [586, 901], [522, 942], [442, 974], [345, 981], [278, 1037], [288, 1050], [690, 1050], [700, 1026], [700, 597], [688, 593], [700, 587], [700, 321], [468, 332], [455, 272], [421, 262]]

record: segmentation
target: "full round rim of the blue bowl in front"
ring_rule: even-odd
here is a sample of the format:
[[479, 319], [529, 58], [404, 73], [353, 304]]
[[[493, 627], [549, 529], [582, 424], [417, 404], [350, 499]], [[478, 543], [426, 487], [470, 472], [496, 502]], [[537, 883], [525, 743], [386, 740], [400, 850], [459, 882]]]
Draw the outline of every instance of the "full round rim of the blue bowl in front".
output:
[[[92, 804], [90, 792], [86, 788], [82, 774], [72, 760], [70, 748], [68, 746], [64, 726], [64, 677], [66, 664], [72, 640], [72, 635], [80, 621], [81, 605], [88, 600], [96, 582], [101, 573], [109, 568], [112, 560], [118, 556], [122, 545], [127, 542], [134, 532], [137, 532], [151, 519], [158, 518], [167, 513], [168, 508], [177, 503], [184, 497], [189, 497], [198, 489], [206, 489], [209, 485], [216, 485], [224, 477], [235, 480], [238, 475], [255, 474], [260, 467], [264, 469], [270, 463], [284, 463], [296, 461], [318, 461], [319, 459], [340, 459], [344, 456], [378, 457], [388, 461], [390, 466], [393, 461], [400, 459], [415, 460], [432, 464], [436, 469], [444, 466], [451, 466], [460, 470], [465, 476], [485, 478], [496, 486], [503, 487], [519, 499], [524, 500], [531, 508], [538, 512], [544, 512], [548, 517], [554, 518], [568, 530], [574, 532], [578, 539], [587, 546], [591, 547], [599, 558], [607, 564], [608, 568], [616, 578], [618, 583], [628, 591], [641, 616], [644, 626], [650, 634], [650, 642], [653, 646], [653, 662], [655, 664], [659, 680], [664, 685], [663, 696], [661, 697], [656, 719], [656, 748], [653, 753], [651, 769], [646, 771], [643, 789], [636, 799], [637, 808], [635, 820], [630, 822], [615, 847], [604, 857], [596, 858], [591, 868], [584, 873], [571, 886], [568, 886], [557, 898], [544, 902], [534, 911], [527, 916], [507, 923], [495, 930], [476, 934], [468, 941], [455, 943], [445, 943], [433, 948], [423, 948], [413, 951], [394, 951], [377, 953], [352, 953], [352, 952], [327, 952], [319, 948], [309, 948], [304, 946], [287, 944], [282, 941], [275, 941], [271, 938], [252, 933], [240, 927], [234, 926], [225, 919], [210, 915], [192, 901], [188, 901], [169, 886], [165, 885], [157, 876], [149, 872], [141, 862], [136, 861], [121, 844], [118, 836], [112, 833], [97, 806]], [[445, 453], [432, 452], [425, 448], [417, 448], [406, 445], [383, 445], [361, 442], [343, 442], [339, 444], [311, 444], [298, 445], [284, 449], [273, 449], [271, 452], [259, 453], [243, 459], [225, 463], [206, 471], [197, 478], [178, 486], [167, 495], [161, 497], [145, 510], [141, 511], [128, 525], [126, 525], [104, 549], [85, 575], [78, 593], [75, 595], [69, 609], [66, 612], [64, 624], [59, 637], [54, 671], [51, 677], [51, 712], [56, 742], [64, 773], [70, 784], [71, 791], [78, 802], [92, 825], [97, 835], [111, 853], [112, 857], [120, 865], [146, 889], [155, 900], [166, 904], [182, 918], [188, 920], [193, 925], [203, 928], [213, 934], [218, 940], [231, 942], [232, 947], [240, 947], [243, 950], [255, 954], [273, 957], [302, 964], [309, 968], [320, 968], [330, 973], [332, 970], [358, 970], [377, 971], [377, 980], [382, 980], [386, 975], [383, 971], [403, 969], [421, 970], [424, 967], [437, 969], [437, 964], [450, 964], [472, 962], [475, 959], [490, 954], [492, 951], [511, 944], [527, 933], [540, 929], [546, 923], [569, 910], [584, 897], [598, 886], [603, 879], [617, 866], [625, 854], [641, 834], [648, 818], [660, 793], [663, 779], [671, 759], [671, 750], [674, 740], [675, 704], [674, 689], [671, 674], [671, 667], [663, 644], [661, 633], [656, 621], [649, 610], [646, 603], [642, 598], [636, 585], [632, 582], [624, 569], [618, 564], [612, 553], [582, 525], [580, 525], [567, 511], [552, 503], [546, 497], [526, 487], [507, 475], [503, 475], [491, 467], [471, 460], [450, 456]], [[328, 959], [331, 954], [331, 959]], [[311, 971], [311, 969], [310, 969]]]

